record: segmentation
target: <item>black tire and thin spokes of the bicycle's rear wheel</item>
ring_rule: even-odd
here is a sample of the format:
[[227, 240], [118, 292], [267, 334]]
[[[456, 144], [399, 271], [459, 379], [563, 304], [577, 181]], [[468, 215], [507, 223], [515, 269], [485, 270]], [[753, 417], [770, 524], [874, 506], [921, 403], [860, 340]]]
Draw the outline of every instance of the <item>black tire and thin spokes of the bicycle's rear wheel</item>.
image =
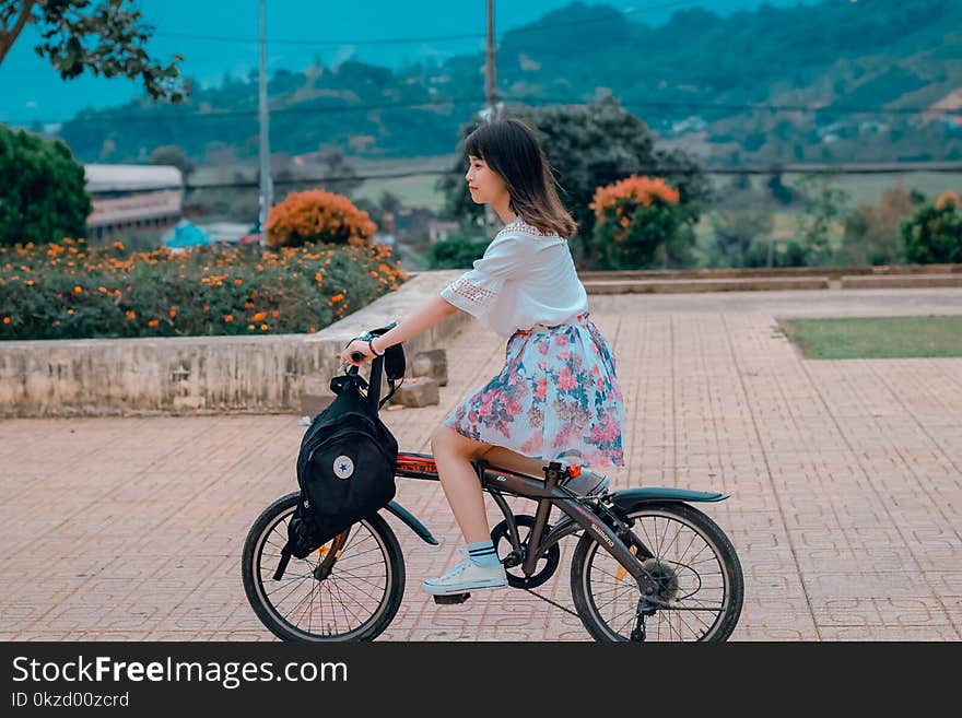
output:
[[[661, 553], [668, 553], [671, 545], [680, 545], [687, 539], [678, 541], [680, 529], [673, 538], [670, 538], [668, 535], [670, 530], [669, 523], [666, 523], [664, 537], [659, 538], [658, 518], [662, 518], [666, 521], [679, 522], [691, 533], [699, 537], [706, 548], [711, 549], [714, 558], [720, 568], [719, 575], [723, 579], [723, 596], [718, 605], [718, 614], [714, 622], [694, 639], [705, 643], [719, 643], [727, 640], [741, 615], [741, 607], [744, 598], [744, 577], [742, 575], [741, 563], [738, 560], [735, 546], [731, 545], [731, 541], [729, 541], [725, 532], [702, 511], [688, 504], [677, 502], [643, 504], [629, 511], [627, 515], [635, 521], [632, 531], [637, 532], [641, 530], [642, 533], [636, 533], [636, 535], [638, 535], [656, 555], [655, 558], [649, 561], [656, 562], [652, 564], [652, 566], [661, 573], [659, 577], [659, 591], [681, 592], [690, 589], [691, 586], [694, 585], [689, 584], [688, 581], [696, 579], [699, 586], [694, 591], [696, 592], [701, 590], [703, 585], [702, 579], [712, 575], [713, 572], [706, 570], [704, 572], [704, 575], [699, 574], [691, 565], [685, 564], [682, 561], [672, 561], [667, 556], [660, 555], [659, 544], [665, 543], [666, 545], [664, 545], [664, 551], [661, 551]], [[650, 518], [653, 521], [648, 522], [646, 521], [646, 518]], [[654, 532], [649, 528], [652, 525], [655, 527]], [[667, 543], [669, 539], [671, 540], [671, 544]], [[692, 538], [689, 545], [693, 544], [694, 540], [695, 539]], [[699, 549], [699, 553], [702, 551], [704, 551], [704, 548]], [[598, 558], [599, 556], [600, 558]], [[603, 574], [606, 573], [603, 563], [599, 564], [597, 567], [599, 575], [598, 580], [594, 580], [596, 572], [594, 564], [596, 560], [599, 562], [607, 562], [614, 566], [615, 574], [613, 578], [615, 580], [607, 581], [603, 578]], [[694, 563], [700, 564], [704, 563], [704, 561], [697, 561]], [[585, 532], [572, 555], [571, 589], [578, 617], [595, 640], [618, 642], [630, 639], [631, 631], [627, 629], [625, 632], [626, 626], [613, 627], [611, 623], [615, 622], [615, 619], [618, 619], [618, 622], [620, 623], [620, 619], [627, 614], [630, 619], [627, 625], [631, 625], [632, 627], [634, 626], [635, 611], [633, 610], [633, 607], [637, 604], [637, 599], [641, 597], [641, 592], [637, 584], [632, 579], [631, 575], [627, 575], [625, 580], [624, 573], [622, 573], [624, 569], [621, 569], [621, 567], [614, 557], [603, 549], [600, 549], [600, 545], [590, 533]], [[695, 579], [691, 578], [691, 576], [694, 576]], [[685, 581], [683, 584], [684, 588], [682, 588], [682, 580]], [[607, 582], [609, 586], [605, 588], [605, 591], [607, 593], [613, 593], [613, 596], [607, 596], [601, 591], [593, 590], [593, 586], [596, 582]], [[612, 585], [614, 588], [611, 588]], [[599, 602], [596, 600], [596, 592], [599, 593], [605, 601], [601, 607], [599, 607]], [[688, 601], [694, 592], [684, 596], [682, 599], [677, 599], [677, 597], [674, 597], [676, 601]], [[662, 636], [661, 622], [667, 616], [671, 616], [668, 617], [667, 634], [669, 639], [673, 640], [671, 637], [672, 633], [677, 633], [678, 637], [681, 640], [684, 640], [682, 636], [682, 626], [678, 625], [672, 627], [672, 621], [677, 621], [678, 624], [683, 624], [684, 627], [691, 629], [693, 634], [699, 633], [699, 631], [691, 628], [689, 621], [692, 623], [704, 623], [702, 615], [711, 613], [711, 611], [707, 611], [704, 608], [704, 600], [705, 599], [699, 598], [692, 599], [691, 603], [677, 603], [678, 605], [697, 609], [693, 611], [656, 611], [654, 615], [646, 619], [646, 639], [652, 638], [653, 631], [650, 622], [655, 616], [658, 616], [657, 639], [659, 640]], [[610, 611], [608, 611], [609, 607], [612, 607]], [[602, 608], [606, 612], [612, 613], [611, 617], [602, 615]], [[621, 613], [613, 613], [617, 610], [621, 610]], [[700, 628], [700, 626], [695, 626], [695, 628]]]

